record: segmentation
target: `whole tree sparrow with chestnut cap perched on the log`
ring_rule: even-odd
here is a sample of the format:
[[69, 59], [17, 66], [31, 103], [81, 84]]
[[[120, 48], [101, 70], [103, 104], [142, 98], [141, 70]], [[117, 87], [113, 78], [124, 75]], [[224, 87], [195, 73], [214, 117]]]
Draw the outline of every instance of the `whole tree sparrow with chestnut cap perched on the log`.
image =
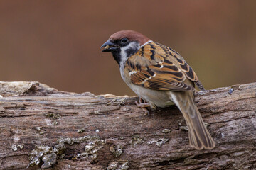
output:
[[195, 103], [195, 85], [205, 89], [178, 52], [134, 30], [114, 33], [101, 48], [112, 53], [124, 82], [147, 102], [140, 100], [138, 106], [154, 109], [175, 104], [186, 120], [191, 147], [215, 147]]

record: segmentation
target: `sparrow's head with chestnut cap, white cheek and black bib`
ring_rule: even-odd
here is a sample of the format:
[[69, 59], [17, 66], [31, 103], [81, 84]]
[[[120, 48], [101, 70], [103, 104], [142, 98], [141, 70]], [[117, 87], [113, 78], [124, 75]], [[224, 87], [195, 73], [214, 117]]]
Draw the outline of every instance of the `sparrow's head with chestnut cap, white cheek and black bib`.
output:
[[120, 65], [149, 41], [145, 35], [134, 30], [121, 30], [111, 35], [101, 48], [102, 52], [112, 52], [114, 60]]

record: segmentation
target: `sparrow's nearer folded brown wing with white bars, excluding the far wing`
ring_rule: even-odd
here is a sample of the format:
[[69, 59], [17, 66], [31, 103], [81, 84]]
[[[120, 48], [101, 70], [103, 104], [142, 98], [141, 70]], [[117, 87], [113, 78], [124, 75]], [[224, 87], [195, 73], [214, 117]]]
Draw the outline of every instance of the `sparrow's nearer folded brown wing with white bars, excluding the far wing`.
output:
[[[137, 69], [136, 65], [141, 67]], [[166, 56], [164, 47], [151, 42], [129, 57], [128, 69], [133, 84], [156, 90], [184, 91], [193, 89], [184, 83], [186, 75]]]

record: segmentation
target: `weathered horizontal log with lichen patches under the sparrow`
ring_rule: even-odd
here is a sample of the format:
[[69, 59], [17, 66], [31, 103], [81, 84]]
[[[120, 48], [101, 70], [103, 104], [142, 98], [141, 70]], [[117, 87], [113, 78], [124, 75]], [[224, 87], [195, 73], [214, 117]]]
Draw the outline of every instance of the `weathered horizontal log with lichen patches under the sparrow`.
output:
[[214, 149], [188, 145], [176, 106], [0, 82], [0, 169], [256, 169], [256, 83], [196, 93]]

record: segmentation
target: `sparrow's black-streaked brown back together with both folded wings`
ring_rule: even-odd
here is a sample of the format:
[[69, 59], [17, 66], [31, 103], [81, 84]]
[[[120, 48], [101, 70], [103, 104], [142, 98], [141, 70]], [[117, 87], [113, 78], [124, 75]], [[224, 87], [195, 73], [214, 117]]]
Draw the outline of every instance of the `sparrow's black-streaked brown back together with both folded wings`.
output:
[[149, 89], [186, 91], [193, 90], [193, 83], [203, 89], [196, 73], [183, 57], [156, 42], [144, 45], [129, 57], [125, 69], [133, 84]]

